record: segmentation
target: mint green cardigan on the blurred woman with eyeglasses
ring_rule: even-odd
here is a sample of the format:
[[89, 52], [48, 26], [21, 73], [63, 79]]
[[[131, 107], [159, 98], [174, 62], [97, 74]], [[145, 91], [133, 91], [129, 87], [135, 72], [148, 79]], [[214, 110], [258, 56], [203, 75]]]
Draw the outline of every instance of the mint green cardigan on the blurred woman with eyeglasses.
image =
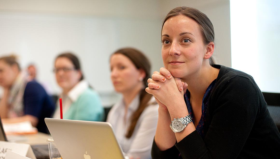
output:
[[96, 91], [87, 88], [64, 114], [64, 119], [104, 121], [104, 108]]

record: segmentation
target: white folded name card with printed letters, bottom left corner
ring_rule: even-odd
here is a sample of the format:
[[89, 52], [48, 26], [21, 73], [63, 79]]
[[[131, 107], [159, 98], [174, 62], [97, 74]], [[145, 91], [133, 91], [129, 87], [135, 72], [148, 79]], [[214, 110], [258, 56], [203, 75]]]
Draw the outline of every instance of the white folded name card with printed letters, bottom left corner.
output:
[[8, 141], [0, 141], [0, 159], [6, 156], [6, 152], [10, 150], [22, 156], [36, 159], [33, 150], [29, 144], [11, 143]]

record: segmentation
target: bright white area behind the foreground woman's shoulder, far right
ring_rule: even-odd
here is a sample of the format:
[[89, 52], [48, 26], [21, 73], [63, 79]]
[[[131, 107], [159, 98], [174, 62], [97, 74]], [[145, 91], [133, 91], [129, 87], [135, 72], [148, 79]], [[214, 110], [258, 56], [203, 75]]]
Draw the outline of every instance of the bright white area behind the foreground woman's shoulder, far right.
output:
[[[240, 6], [242, 3], [242, 6]], [[231, 1], [232, 67], [263, 92], [280, 92], [280, 1]]]

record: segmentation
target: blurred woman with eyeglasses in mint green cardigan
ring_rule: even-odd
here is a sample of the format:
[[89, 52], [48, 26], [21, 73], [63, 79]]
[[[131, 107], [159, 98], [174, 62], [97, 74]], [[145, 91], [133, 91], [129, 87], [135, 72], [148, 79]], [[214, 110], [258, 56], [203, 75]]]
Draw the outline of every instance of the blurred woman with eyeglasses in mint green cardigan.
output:
[[[73, 53], [62, 53], [55, 59], [53, 69], [57, 84], [62, 88], [64, 119], [103, 121], [104, 109], [96, 91], [84, 80], [80, 62]], [[58, 104], [59, 105], [59, 101]], [[60, 118], [57, 107], [53, 118]]]

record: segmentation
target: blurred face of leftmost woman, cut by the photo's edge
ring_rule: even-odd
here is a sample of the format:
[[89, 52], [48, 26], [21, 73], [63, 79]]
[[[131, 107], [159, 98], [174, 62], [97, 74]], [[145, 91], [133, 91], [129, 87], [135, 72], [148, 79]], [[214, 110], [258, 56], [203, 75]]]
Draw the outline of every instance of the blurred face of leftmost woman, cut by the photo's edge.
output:
[[16, 65], [8, 65], [3, 60], [0, 60], [0, 85], [3, 87], [11, 87], [18, 75]]

